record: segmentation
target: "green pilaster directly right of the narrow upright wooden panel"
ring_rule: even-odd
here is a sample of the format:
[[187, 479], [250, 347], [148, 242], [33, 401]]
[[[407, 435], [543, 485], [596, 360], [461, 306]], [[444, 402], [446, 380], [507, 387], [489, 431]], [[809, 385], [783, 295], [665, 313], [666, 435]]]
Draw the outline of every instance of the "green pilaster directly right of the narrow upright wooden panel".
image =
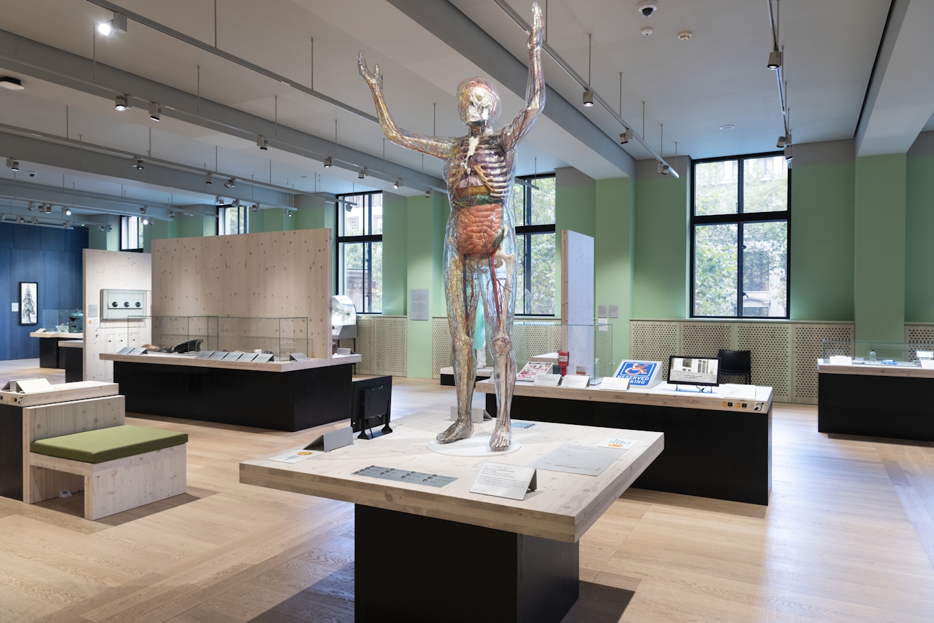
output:
[[635, 191], [631, 177], [601, 179], [595, 186], [595, 230], [600, 235], [594, 240], [594, 299], [598, 305], [619, 305], [619, 318], [610, 319], [618, 364], [630, 356]]

